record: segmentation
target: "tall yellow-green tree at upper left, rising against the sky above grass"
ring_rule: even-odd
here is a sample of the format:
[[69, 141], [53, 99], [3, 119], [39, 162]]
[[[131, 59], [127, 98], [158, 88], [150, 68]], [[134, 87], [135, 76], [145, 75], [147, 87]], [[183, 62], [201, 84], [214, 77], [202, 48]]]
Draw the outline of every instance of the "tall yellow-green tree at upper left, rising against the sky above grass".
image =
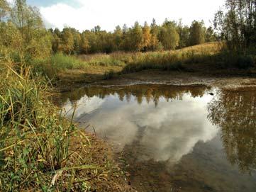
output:
[[[5, 4], [1, 1], [1, 4]], [[2, 11], [1, 11], [2, 12]], [[16, 0], [10, 13], [5, 19], [3, 25], [3, 31], [15, 36], [16, 43], [19, 47], [13, 49], [16, 54], [19, 55], [19, 60], [23, 60], [25, 57], [45, 57], [50, 55], [51, 41], [50, 34], [43, 26], [43, 21], [40, 17], [38, 9], [28, 6], [25, 0]], [[5, 28], [5, 29], [4, 29]], [[12, 40], [10, 40], [13, 43]]]

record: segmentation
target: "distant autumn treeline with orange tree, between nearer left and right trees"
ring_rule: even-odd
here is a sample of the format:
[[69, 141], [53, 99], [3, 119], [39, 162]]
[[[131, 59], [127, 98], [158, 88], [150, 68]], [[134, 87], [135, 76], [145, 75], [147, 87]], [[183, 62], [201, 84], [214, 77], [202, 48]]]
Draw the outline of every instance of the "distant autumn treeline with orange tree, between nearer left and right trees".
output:
[[67, 54], [88, 54], [97, 52], [147, 52], [156, 50], [175, 50], [177, 48], [217, 40], [213, 28], [206, 28], [204, 21], [193, 21], [191, 26], [184, 26], [181, 21], [168, 21], [158, 26], [155, 19], [148, 25], [138, 22], [128, 28], [117, 26], [112, 32], [96, 26], [79, 33], [74, 28], [50, 29], [52, 51]]

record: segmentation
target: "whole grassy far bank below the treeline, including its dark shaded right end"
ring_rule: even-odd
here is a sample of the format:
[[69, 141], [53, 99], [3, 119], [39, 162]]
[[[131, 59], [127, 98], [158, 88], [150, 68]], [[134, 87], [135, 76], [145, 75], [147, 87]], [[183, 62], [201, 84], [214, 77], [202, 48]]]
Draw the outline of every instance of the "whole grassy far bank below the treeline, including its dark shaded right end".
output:
[[162, 52], [115, 52], [110, 55], [53, 55], [35, 60], [36, 69], [60, 82], [90, 82], [112, 79], [120, 74], [145, 69], [163, 71], [213, 72], [216, 70], [249, 69], [255, 65], [255, 54], [231, 53], [222, 43], [205, 43], [181, 50]]

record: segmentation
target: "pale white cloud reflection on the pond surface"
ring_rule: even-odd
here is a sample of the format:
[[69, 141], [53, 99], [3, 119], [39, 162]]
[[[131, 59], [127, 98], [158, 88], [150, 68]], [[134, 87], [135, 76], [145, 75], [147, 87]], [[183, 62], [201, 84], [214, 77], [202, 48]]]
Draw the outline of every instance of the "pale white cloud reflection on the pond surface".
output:
[[[130, 96], [129, 102], [120, 101], [118, 94], [84, 96], [77, 101], [75, 119], [94, 125], [97, 134], [115, 143], [119, 152], [136, 141], [135, 147], [141, 150], [138, 160], [174, 163], [191, 152], [197, 142], [216, 137], [218, 130], [207, 120], [211, 98], [184, 93], [182, 99], [167, 102], [161, 96], [155, 107], [145, 98], [138, 104], [135, 96]], [[67, 101], [66, 111], [72, 106]]]

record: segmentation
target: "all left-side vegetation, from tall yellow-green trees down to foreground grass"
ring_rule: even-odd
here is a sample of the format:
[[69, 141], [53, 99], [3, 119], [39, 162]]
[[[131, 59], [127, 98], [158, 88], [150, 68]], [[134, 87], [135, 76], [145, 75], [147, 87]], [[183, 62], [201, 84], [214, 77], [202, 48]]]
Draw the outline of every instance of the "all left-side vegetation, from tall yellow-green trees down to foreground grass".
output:
[[49, 101], [42, 62], [82, 62], [51, 55], [48, 35], [26, 1], [0, 1], [0, 191], [124, 191], [108, 148]]

